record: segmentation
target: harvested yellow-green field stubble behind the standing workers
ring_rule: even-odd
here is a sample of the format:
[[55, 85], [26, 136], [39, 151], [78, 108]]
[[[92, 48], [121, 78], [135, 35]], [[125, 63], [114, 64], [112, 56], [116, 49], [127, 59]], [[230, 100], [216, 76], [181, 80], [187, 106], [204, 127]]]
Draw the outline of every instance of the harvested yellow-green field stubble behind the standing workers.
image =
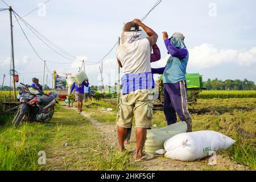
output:
[[[97, 106], [86, 111], [99, 122], [115, 123], [117, 106], [103, 101], [93, 101]], [[92, 104], [90, 101], [88, 104]], [[189, 106], [192, 114], [193, 131], [214, 130], [223, 133], [237, 142], [222, 154], [236, 162], [256, 169], [255, 131], [256, 98], [230, 98], [210, 100], [200, 99], [197, 105]], [[101, 107], [112, 108], [114, 113], [106, 113]], [[166, 126], [163, 111], [154, 111], [153, 125]]]

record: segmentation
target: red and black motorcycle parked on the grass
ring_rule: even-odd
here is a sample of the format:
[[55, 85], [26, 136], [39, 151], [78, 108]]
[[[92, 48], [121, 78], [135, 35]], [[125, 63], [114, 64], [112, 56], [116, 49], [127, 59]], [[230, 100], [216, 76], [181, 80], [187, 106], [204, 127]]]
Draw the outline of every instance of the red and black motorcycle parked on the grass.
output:
[[44, 94], [42, 90], [20, 83], [19, 109], [13, 119], [14, 127], [24, 121], [49, 122], [54, 113], [54, 106], [59, 96], [57, 92]]

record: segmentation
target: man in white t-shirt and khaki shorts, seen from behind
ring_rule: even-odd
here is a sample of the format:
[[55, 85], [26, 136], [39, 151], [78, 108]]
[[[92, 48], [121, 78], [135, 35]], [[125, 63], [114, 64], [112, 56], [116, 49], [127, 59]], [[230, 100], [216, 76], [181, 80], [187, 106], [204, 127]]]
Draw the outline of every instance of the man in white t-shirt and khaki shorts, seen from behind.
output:
[[[142, 39], [139, 27], [146, 31], [148, 37]], [[124, 141], [127, 128], [135, 117], [137, 152], [135, 162], [150, 160], [154, 155], [144, 154], [147, 129], [152, 127], [152, 102], [150, 91], [154, 88], [151, 73], [151, 47], [156, 44], [158, 35], [139, 19], [128, 22], [123, 27], [122, 45], [117, 48], [117, 61], [123, 69], [122, 96], [117, 114], [119, 151], [125, 150]]]

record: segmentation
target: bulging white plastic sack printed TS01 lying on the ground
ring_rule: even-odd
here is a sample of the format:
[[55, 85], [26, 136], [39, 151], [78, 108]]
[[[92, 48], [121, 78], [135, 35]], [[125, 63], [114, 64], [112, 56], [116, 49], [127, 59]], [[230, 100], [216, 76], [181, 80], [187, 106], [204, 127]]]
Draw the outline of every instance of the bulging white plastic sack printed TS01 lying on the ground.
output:
[[194, 161], [209, 156], [210, 151], [226, 150], [236, 142], [216, 131], [181, 133], [164, 142], [167, 158]]

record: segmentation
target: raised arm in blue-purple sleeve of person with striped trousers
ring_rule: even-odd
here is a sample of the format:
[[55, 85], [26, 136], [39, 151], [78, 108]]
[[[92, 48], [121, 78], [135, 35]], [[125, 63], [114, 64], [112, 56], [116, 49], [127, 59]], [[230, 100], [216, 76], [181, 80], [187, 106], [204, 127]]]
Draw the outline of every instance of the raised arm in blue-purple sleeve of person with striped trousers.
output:
[[163, 32], [163, 39], [164, 39], [164, 44], [166, 45], [168, 53], [172, 55], [173, 57], [177, 57], [179, 59], [184, 59], [187, 54], [188, 50], [185, 48], [176, 48], [174, 45], [172, 45], [171, 40], [168, 39], [168, 34], [167, 32]]

